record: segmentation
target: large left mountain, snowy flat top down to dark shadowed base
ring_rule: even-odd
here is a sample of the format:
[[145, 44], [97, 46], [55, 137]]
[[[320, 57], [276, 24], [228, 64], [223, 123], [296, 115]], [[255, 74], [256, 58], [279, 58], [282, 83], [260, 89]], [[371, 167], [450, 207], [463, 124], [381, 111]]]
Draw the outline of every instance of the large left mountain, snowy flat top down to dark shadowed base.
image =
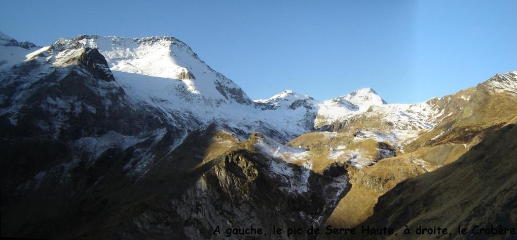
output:
[[[287, 161], [300, 149], [276, 142], [304, 129], [269, 123], [173, 38], [3, 47], [13, 53], [1, 55], [0, 73], [3, 236], [206, 237], [256, 209], [256, 227], [278, 212], [277, 226], [312, 226], [349, 187], [343, 165], [315, 174]], [[148, 61], [173, 71], [153, 72]], [[267, 136], [245, 141], [253, 131]], [[265, 150], [279, 147], [282, 155]]]

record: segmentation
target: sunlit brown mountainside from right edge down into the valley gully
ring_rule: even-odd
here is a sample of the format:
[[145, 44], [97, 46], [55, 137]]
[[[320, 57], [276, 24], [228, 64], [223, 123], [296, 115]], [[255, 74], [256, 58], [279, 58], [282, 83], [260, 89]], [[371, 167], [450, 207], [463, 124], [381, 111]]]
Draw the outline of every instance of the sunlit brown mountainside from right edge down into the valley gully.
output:
[[[374, 213], [377, 198], [389, 192], [398, 183], [416, 176], [425, 176], [425, 173], [457, 161], [488, 135], [513, 123], [517, 117], [517, 97], [512, 84], [517, 82], [516, 73], [497, 74], [475, 88], [409, 105], [406, 111], [412, 112], [420, 119], [427, 119], [432, 127], [417, 131], [402, 141], [394, 138], [393, 134], [382, 133], [382, 128], [386, 126], [381, 125], [379, 129], [375, 124], [382, 121], [379, 122], [375, 118], [364, 117], [360, 124], [353, 125], [363, 129], [363, 122], [371, 122], [369, 127], [375, 130], [360, 130], [360, 135], [372, 135], [376, 141], [390, 144], [398, 149], [397, 156], [384, 155], [387, 158], [376, 161], [376, 156], [381, 156], [385, 150], [368, 138], [354, 136], [352, 139], [346, 129], [342, 130], [342, 133], [338, 132], [336, 138], [348, 141], [348, 148], [323, 141], [331, 148], [343, 148], [339, 150], [343, 152], [340, 156], [342, 161], [357, 164], [361, 162], [357, 159], [362, 158], [362, 162], [366, 164], [375, 162], [367, 168], [347, 168], [352, 183], [351, 191], [340, 201], [327, 224], [342, 227], [359, 225]], [[497, 88], [494, 88], [494, 85]], [[501, 85], [505, 87], [500, 88]], [[357, 129], [351, 130], [357, 132]], [[346, 151], [354, 148], [359, 150]]]

